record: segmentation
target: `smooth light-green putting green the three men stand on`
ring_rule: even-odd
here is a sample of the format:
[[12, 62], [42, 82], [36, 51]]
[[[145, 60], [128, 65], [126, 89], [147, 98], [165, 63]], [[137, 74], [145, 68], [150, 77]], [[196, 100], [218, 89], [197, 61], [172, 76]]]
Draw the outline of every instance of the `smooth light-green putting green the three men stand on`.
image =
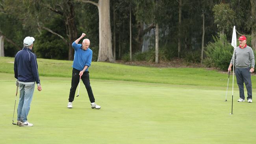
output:
[[19, 127], [11, 124], [15, 79], [6, 73], [0, 77], [2, 144], [251, 144], [256, 140], [255, 101], [236, 102], [237, 89], [231, 115], [232, 93], [230, 89], [224, 102], [224, 87], [91, 79], [102, 109], [91, 109], [85, 87], [68, 109], [71, 78], [41, 77], [43, 90], [35, 90], [28, 115], [34, 126]]

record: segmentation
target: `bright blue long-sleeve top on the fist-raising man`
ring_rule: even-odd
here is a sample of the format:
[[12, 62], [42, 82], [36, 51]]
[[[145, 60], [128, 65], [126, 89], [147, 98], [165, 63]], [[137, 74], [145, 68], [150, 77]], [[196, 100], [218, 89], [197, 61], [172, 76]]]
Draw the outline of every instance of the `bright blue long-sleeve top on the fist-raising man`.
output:
[[[72, 43], [72, 47], [75, 50], [72, 67], [80, 71], [82, 71], [86, 65], [89, 68], [93, 58], [93, 51], [90, 48], [83, 50], [82, 44], [76, 44], [76, 42]], [[88, 71], [88, 68], [85, 71]]]

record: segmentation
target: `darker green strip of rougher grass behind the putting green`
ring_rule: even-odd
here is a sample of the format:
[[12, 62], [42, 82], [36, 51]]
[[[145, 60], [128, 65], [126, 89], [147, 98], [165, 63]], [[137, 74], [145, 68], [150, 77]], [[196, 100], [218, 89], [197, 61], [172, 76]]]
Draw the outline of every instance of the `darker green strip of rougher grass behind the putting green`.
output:
[[[13, 74], [13, 61], [13, 57], [0, 57], [0, 72]], [[71, 77], [72, 61], [50, 59], [37, 61], [40, 76]], [[93, 62], [89, 72], [92, 79], [212, 87], [226, 87], [228, 78], [227, 74], [205, 68], [156, 68], [102, 62]], [[252, 77], [252, 81], [256, 81], [255, 76]], [[256, 88], [255, 85], [252, 87]]]

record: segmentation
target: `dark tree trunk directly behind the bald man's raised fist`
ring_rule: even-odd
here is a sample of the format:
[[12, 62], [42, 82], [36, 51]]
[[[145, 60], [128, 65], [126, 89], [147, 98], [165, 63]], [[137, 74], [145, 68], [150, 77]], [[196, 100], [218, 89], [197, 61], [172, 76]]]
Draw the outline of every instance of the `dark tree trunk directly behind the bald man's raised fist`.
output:
[[68, 11], [65, 11], [66, 25], [69, 33], [69, 60], [74, 59], [74, 49], [72, 43], [77, 39], [77, 28], [75, 24], [74, 5], [72, 0], [67, 2]]

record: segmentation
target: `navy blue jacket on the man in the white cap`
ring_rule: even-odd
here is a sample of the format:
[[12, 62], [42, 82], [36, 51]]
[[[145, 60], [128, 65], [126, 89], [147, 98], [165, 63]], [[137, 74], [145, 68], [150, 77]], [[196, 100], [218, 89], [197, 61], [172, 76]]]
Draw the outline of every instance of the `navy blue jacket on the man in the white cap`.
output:
[[23, 48], [15, 55], [14, 77], [22, 82], [36, 82], [40, 85], [37, 57], [30, 48]]

